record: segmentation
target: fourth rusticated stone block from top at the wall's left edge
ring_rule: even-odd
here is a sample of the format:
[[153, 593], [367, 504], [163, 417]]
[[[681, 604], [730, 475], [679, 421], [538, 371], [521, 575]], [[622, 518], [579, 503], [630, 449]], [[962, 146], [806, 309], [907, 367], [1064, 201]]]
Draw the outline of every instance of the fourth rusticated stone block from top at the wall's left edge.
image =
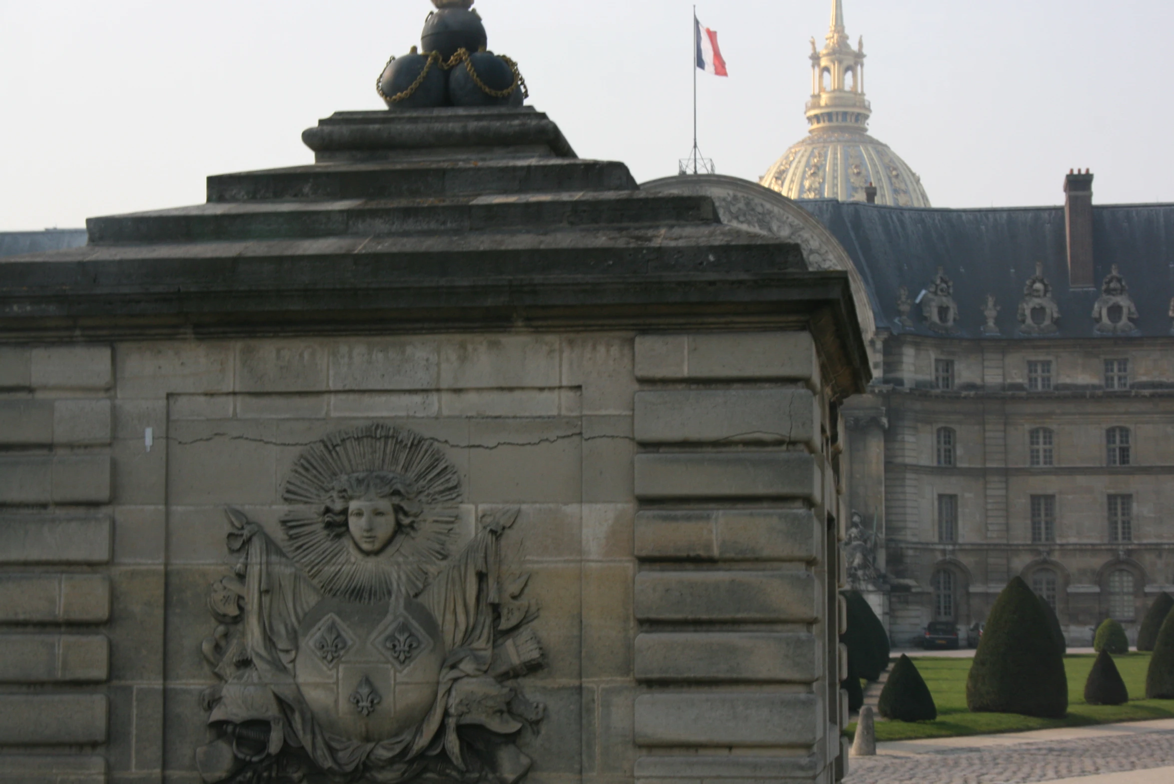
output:
[[108, 563], [110, 519], [0, 516], [0, 563]]

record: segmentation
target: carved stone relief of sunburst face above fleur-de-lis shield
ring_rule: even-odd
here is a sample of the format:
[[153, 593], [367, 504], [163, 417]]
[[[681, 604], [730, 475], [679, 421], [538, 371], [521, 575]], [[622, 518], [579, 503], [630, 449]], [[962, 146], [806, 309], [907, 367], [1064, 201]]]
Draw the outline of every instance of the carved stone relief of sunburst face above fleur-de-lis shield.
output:
[[542, 665], [538, 608], [498, 552], [518, 508], [483, 515], [452, 554], [459, 499], [432, 442], [370, 425], [298, 458], [282, 545], [227, 511], [239, 562], [209, 599], [220, 626], [203, 653], [222, 683], [203, 696], [218, 736], [196, 752], [205, 782], [527, 773], [515, 741], [545, 709], [517, 678]]

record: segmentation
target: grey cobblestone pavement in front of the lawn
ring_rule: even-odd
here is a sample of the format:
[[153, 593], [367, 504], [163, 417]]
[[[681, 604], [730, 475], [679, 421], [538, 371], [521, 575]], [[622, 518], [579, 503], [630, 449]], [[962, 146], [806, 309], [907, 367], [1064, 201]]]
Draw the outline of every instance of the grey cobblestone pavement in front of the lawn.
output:
[[1026, 784], [1174, 765], [1174, 731], [852, 757], [844, 784]]

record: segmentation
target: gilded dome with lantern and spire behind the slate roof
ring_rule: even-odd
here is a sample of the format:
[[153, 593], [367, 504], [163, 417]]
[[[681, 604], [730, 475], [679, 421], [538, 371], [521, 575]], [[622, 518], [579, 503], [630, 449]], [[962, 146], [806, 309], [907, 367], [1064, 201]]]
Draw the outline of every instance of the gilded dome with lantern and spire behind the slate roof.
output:
[[892, 207], [930, 207], [922, 178], [899, 155], [868, 135], [871, 104], [864, 99], [864, 40], [848, 41], [842, 0], [832, 0], [831, 31], [816, 50], [811, 39], [808, 135], [791, 146], [760, 181], [794, 200], [868, 201]]

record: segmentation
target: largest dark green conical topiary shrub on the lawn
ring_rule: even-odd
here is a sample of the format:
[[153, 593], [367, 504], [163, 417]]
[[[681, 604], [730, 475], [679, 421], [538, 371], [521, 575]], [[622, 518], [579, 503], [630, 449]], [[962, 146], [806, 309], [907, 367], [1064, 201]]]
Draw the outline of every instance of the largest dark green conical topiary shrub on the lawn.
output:
[[976, 712], [1060, 718], [1068, 712], [1064, 656], [1047, 614], [1021, 577], [1013, 577], [991, 608], [966, 678], [966, 705]]

